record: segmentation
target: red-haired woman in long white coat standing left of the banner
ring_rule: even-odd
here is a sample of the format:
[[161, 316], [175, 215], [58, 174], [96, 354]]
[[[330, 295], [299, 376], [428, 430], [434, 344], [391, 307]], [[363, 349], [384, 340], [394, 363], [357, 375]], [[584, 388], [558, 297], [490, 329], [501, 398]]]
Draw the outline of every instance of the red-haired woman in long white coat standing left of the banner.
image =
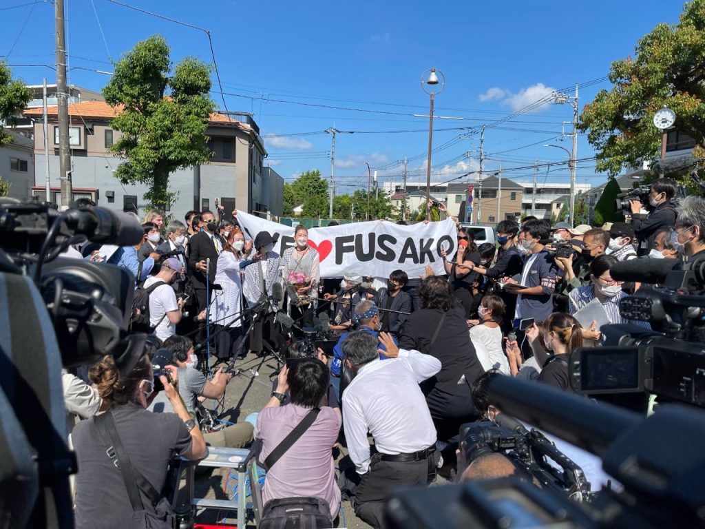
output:
[[[243, 358], [247, 351], [245, 331], [240, 312], [243, 310], [243, 281], [240, 260], [243, 260], [245, 236], [235, 228], [228, 233], [223, 251], [218, 257], [213, 296], [211, 300], [210, 320], [214, 324], [216, 337], [216, 357], [228, 362]], [[216, 288], [216, 285], [220, 288]]]

